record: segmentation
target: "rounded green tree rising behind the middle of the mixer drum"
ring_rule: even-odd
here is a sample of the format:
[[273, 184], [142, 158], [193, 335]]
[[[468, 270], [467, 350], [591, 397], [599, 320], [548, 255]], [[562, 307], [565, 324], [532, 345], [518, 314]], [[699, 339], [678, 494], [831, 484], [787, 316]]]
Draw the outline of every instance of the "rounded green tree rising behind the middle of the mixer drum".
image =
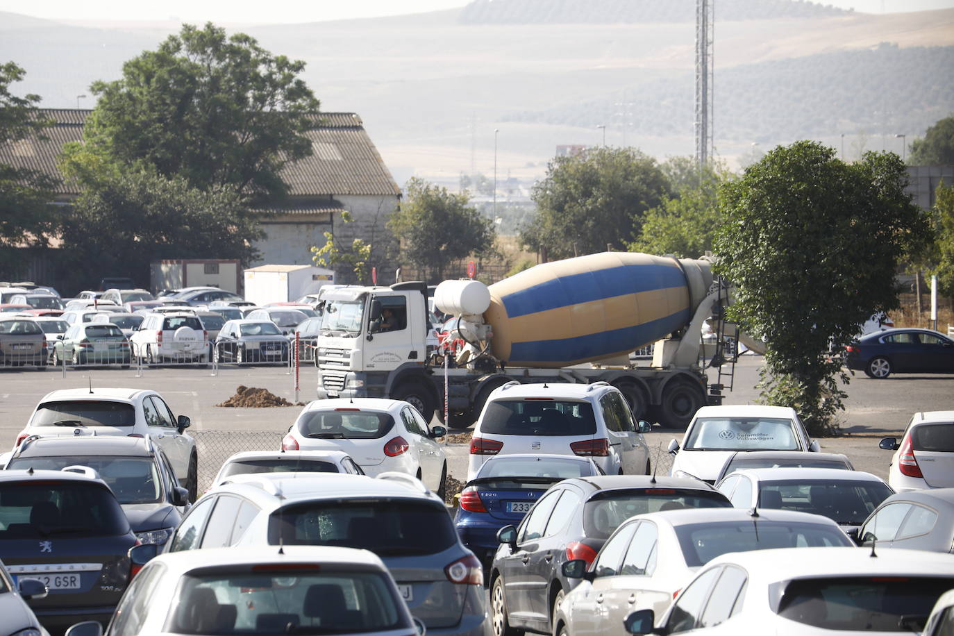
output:
[[533, 187], [537, 215], [520, 232], [531, 250], [550, 259], [625, 249], [639, 236], [643, 215], [670, 195], [655, 159], [631, 148], [598, 148], [557, 157]]

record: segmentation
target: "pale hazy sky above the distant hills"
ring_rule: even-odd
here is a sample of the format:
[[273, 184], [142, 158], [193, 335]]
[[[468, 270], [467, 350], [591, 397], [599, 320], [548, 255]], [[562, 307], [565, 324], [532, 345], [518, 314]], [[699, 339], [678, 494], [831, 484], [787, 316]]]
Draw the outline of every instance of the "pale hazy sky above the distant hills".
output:
[[[666, 2], [667, 0], [659, 0]], [[290, 23], [451, 9], [468, 0], [0, 0], [0, 11], [64, 20]], [[954, 0], [821, 0], [844, 9], [881, 13], [948, 9]], [[718, 15], [718, 0], [716, 0]]]

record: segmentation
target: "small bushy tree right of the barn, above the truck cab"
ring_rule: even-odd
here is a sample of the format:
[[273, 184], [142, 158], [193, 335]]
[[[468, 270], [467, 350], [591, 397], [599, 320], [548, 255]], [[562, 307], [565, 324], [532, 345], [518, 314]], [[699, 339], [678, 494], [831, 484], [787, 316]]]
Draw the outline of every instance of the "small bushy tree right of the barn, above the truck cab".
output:
[[404, 193], [401, 210], [391, 215], [387, 226], [401, 242], [405, 263], [424, 269], [429, 279], [443, 280], [453, 262], [493, 254], [493, 221], [468, 205], [466, 192], [454, 195], [412, 177]]

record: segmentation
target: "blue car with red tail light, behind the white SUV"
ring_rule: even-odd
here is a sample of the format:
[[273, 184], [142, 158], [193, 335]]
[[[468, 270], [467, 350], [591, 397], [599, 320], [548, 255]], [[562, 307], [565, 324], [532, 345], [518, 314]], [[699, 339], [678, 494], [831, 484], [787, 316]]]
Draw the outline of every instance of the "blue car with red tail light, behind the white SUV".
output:
[[517, 525], [556, 482], [603, 475], [588, 457], [498, 455], [484, 462], [458, 496], [454, 526], [461, 541], [485, 564], [500, 542], [497, 531]]

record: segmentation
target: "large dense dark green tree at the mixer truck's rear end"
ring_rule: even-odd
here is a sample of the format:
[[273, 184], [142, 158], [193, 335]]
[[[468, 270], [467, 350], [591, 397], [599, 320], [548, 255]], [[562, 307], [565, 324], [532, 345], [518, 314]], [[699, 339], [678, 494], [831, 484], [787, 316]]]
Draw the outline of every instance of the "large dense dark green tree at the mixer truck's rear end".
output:
[[840, 352], [872, 311], [898, 306], [897, 265], [930, 239], [906, 184], [897, 154], [846, 164], [799, 141], [720, 189], [716, 272], [736, 286], [730, 317], [768, 346], [762, 400], [795, 408], [815, 435], [843, 409]]

